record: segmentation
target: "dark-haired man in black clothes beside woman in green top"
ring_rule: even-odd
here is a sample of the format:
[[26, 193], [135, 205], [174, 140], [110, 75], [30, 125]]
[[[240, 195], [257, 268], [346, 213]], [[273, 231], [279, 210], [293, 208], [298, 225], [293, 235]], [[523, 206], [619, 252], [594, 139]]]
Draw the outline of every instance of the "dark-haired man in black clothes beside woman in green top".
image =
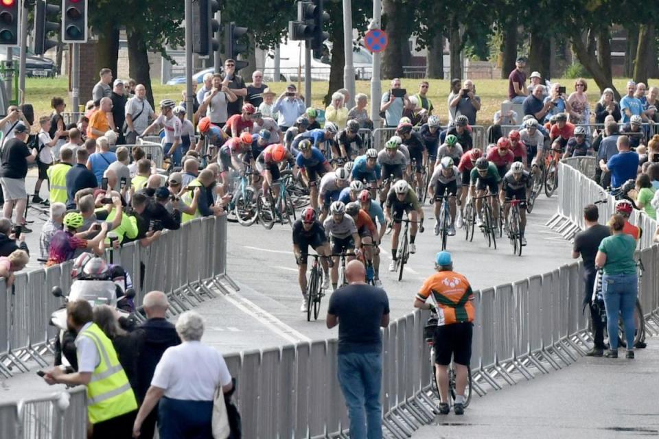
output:
[[572, 257], [577, 259], [579, 256], [583, 259], [583, 281], [585, 291], [583, 292], [583, 307], [590, 306], [590, 319], [594, 329], [594, 346], [586, 355], [589, 357], [601, 357], [604, 351], [604, 325], [602, 323], [599, 310], [592, 306], [592, 289], [595, 283], [597, 269], [595, 268], [595, 255], [602, 239], [610, 235], [607, 226], [597, 224], [599, 212], [597, 206], [588, 204], [583, 208], [583, 219], [586, 222], [586, 230], [577, 233], [575, 236], [575, 246], [572, 251]]

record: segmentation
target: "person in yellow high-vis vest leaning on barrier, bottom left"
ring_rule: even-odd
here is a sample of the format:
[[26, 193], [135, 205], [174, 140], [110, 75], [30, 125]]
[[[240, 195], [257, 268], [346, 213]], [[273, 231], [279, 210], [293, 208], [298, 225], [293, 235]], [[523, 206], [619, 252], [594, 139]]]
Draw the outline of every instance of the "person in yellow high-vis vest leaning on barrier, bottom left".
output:
[[93, 309], [86, 300], [67, 304], [67, 324], [78, 334], [78, 372], [55, 367], [44, 379], [50, 385], [86, 385], [87, 415], [93, 439], [128, 439], [137, 415], [137, 400], [126, 372], [119, 364], [111, 340], [93, 322]]

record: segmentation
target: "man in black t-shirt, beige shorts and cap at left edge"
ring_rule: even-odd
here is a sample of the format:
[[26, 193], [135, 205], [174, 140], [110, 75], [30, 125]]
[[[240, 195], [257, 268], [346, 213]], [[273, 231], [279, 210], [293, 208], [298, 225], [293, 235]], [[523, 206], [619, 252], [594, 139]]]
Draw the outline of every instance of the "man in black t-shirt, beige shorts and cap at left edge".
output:
[[12, 219], [14, 206], [16, 207], [16, 219], [14, 224], [20, 224], [23, 233], [31, 233], [32, 230], [25, 226], [25, 209], [27, 208], [27, 193], [25, 192], [25, 176], [27, 175], [27, 163], [36, 160], [37, 150], [32, 152], [27, 149], [25, 141], [29, 128], [23, 123], [17, 123], [14, 128], [12, 139], [4, 142], [0, 148], [0, 185], [4, 194], [5, 204], [3, 215]]

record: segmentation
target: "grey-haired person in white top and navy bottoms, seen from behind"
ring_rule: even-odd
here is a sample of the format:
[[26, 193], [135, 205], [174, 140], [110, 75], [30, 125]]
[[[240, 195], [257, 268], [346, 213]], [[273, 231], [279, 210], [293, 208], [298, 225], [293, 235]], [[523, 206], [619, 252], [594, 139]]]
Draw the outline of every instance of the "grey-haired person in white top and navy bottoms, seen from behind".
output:
[[178, 318], [176, 332], [182, 344], [167, 348], [139, 407], [133, 425], [137, 437], [144, 418], [158, 407], [161, 439], [211, 439], [213, 398], [218, 385], [226, 394], [233, 390], [231, 373], [222, 355], [200, 342], [204, 320], [194, 311]]

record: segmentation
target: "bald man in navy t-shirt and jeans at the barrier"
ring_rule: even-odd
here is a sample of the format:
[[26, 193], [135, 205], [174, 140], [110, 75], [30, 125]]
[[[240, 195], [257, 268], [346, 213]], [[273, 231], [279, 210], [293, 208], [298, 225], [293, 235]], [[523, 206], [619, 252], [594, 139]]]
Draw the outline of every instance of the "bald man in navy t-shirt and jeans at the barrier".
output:
[[364, 282], [360, 261], [345, 269], [349, 285], [329, 298], [327, 328], [338, 324], [338, 382], [350, 419], [350, 436], [382, 437], [382, 335], [389, 325], [389, 299], [384, 289]]

